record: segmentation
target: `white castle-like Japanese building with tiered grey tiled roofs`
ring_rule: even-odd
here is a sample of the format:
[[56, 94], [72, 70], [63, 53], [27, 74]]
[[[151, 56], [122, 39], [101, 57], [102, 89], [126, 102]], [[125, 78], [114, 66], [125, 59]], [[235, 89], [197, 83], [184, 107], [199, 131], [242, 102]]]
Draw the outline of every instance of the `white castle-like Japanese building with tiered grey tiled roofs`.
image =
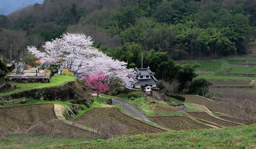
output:
[[133, 85], [133, 88], [139, 89], [143, 88], [145, 91], [151, 91], [151, 88], [156, 88], [156, 84], [160, 83], [154, 77], [155, 73], [150, 71], [148, 68], [135, 68], [134, 72], [136, 74], [135, 77], [132, 77], [133, 81], [130, 83]]

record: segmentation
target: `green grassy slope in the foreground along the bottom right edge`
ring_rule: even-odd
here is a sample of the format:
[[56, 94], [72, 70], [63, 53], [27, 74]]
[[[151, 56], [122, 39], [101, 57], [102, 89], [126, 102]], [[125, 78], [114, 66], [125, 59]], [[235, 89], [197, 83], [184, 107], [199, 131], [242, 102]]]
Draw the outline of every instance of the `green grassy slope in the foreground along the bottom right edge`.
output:
[[252, 124], [98, 139], [74, 144], [72, 148], [253, 148], [256, 147], [255, 134], [256, 125]]

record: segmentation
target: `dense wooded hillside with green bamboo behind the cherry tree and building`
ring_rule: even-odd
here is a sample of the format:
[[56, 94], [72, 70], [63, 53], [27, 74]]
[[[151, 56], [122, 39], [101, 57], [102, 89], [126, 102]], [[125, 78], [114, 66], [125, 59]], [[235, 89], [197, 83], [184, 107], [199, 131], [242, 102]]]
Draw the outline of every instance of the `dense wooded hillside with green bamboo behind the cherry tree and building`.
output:
[[174, 60], [250, 52], [255, 9], [253, 0], [45, 0], [0, 15], [0, 53], [8, 58], [12, 45], [12, 59], [28, 61], [27, 46], [43, 50], [45, 41], [63, 32], [85, 33], [94, 47], [127, 62], [127, 68], [140, 67], [143, 54], [143, 67], [156, 78], [191, 81], [198, 66]]

